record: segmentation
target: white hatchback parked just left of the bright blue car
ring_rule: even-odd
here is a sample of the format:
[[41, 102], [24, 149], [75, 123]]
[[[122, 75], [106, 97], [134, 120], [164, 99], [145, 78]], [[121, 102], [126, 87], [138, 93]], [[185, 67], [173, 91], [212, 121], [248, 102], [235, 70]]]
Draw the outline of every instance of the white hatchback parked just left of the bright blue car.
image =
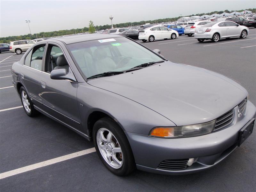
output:
[[139, 39], [143, 42], [147, 40], [152, 42], [157, 39], [175, 39], [177, 36], [179, 36], [177, 31], [166, 27], [150, 27], [139, 33]]

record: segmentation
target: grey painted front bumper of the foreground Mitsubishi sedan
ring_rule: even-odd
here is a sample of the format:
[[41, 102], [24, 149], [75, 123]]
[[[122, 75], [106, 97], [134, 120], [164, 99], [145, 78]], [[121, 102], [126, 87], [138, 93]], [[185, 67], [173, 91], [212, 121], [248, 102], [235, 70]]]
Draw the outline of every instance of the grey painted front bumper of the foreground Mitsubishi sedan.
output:
[[[255, 118], [256, 108], [248, 101], [245, 115], [235, 118], [227, 128], [210, 134], [162, 139], [136, 133], [125, 132], [133, 152], [137, 168], [142, 171], [161, 174], [188, 174], [208, 169], [227, 157], [236, 147], [238, 132]], [[246, 142], [246, 141], [245, 141]], [[197, 161], [183, 170], [163, 170], [158, 165], [165, 160], [195, 158]]]

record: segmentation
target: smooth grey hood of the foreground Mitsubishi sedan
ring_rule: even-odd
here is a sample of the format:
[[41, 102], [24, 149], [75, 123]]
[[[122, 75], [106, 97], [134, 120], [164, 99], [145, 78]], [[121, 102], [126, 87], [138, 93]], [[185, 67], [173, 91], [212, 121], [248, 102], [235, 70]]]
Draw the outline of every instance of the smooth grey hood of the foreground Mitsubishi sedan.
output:
[[248, 94], [226, 76], [170, 61], [87, 83], [138, 102], [177, 126], [211, 121]]

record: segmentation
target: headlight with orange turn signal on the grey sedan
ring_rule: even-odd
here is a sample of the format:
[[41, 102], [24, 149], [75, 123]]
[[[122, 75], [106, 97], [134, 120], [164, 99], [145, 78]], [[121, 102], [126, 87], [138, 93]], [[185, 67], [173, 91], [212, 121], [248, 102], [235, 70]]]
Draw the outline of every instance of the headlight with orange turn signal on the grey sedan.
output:
[[161, 138], [194, 137], [212, 132], [214, 125], [215, 119], [202, 124], [179, 127], [155, 127], [149, 132], [149, 136]]

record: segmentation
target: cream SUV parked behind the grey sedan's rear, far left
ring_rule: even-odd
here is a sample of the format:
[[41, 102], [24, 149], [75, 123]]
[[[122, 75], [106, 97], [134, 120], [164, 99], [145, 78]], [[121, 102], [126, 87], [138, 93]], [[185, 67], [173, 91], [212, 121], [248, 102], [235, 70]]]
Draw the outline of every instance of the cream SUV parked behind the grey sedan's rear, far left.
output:
[[35, 43], [36, 42], [32, 40], [12, 41], [10, 44], [10, 52], [15, 52], [19, 55], [23, 51], [27, 51]]

